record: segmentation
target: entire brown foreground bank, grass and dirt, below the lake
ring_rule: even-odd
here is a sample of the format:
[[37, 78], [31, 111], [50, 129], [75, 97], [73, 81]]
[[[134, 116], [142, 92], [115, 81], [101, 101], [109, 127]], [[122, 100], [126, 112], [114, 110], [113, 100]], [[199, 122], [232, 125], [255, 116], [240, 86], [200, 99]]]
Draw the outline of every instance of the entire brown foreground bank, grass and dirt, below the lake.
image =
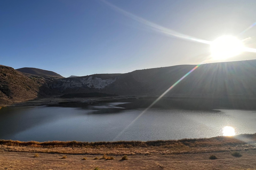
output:
[[256, 169], [255, 143], [256, 133], [147, 142], [0, 140], [0, 169]]

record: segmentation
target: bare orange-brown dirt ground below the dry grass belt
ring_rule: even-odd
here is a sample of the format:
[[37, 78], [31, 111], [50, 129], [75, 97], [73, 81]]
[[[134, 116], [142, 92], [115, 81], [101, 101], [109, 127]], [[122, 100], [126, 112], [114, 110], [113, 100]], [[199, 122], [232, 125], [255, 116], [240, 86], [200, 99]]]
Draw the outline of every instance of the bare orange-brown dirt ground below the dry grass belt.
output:
[[[234, 157], [230, 151], [179, 155], [134, 155], [121, 161], [93, 160], [102, 155], [66, 155], [34, 152], [0, 151], [0, 169], [256, 169], [256, 150], [239, 151], [243, 156]], [[210, 160], [210, 155], [218, 159]], [[84, 157], [87, 160], [82, 160]]]

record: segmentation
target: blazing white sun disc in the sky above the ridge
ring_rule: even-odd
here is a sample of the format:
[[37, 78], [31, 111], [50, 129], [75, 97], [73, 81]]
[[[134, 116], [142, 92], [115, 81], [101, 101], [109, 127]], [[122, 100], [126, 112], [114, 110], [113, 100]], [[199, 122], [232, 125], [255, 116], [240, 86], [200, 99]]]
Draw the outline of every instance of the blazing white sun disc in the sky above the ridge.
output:
[[211, 43], [211, 56], [214, 60], [225, 60], [243, 51], [243, 42], [234, 36], [221, 36]]

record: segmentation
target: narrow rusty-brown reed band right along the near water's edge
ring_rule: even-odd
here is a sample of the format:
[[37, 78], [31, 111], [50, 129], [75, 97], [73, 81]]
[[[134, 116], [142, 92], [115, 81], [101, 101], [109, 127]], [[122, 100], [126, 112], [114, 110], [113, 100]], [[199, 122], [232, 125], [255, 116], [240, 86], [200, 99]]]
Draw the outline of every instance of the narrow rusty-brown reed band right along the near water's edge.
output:
[[[241, 140], [242, 139], [242, 140]], [[21, 142], [13, 140], [0, 140], [0, 145], [6, 146], [31, 146], [39, 148], [132, 148], [132, 147], [215, 147], [225, 145], [242, 145], [246, 143], [255, 143], [255, 134], [241, 134], [236, 137], [214, 137], [204, 139], [182, 139], [182, 140], [158, 140], [158, 141], [117, 141], [117, 142], [78, 142], [78, 141], [50, 141], [50, 142]]]

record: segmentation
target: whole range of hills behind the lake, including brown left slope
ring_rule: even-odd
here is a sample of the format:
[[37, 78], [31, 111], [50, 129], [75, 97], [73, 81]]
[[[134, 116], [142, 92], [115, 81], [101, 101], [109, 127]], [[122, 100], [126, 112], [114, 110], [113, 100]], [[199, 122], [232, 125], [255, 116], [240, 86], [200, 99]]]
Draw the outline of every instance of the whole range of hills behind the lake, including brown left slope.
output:
[[[109, 94], [124, 96], [160, 96], [196, 65], [176, 65], [136, 70], [125, 74], [93, 74], [62, 78], [22, 74], [1, 66], [1, 98], [11, 100], [25, 94], [35, 96], [81, 96], [78, 94]], [[6, 69], [8, 68], [8, 69]], [[6, 70], [9, 70], [6, 72]], [[47, 71], [48, 72], [48, 71]], [[47, 74], [49, 75], [49, 74]], [[7, 76], [7, 77], [6, 77]], [[45, 76], [45, 74], [44, 74]], [[11, 78], [11, 79], [9, 79]], [[22, 83], [24, 82], [24, 83]], [[27, 84], [30, 84], [27, 87]], [[202, 64], [187, 74], [165, 97], [170, 104], [182, 107], [254, 108], [256, 103], [256, 60]], [[27, 89], [22, 91], [21, 89]], [[21, 92], [19, 92], [21, 91]], [[77, 94], [77, 95], [76, 95]], [[1, 103], [1, 101], [0, 101]], [[256, 105], [255, 105], [256, 108]]]

